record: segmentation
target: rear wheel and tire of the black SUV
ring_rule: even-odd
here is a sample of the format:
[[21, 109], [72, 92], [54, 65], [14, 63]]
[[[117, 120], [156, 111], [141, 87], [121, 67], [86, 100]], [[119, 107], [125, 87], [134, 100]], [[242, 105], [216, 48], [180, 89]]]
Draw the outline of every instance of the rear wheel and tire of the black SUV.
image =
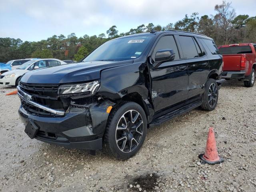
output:
[[205, 91], [202, 96], [203, 110], [212, 111], [215, 109], [219, 98], [218, 84], [214, 79], [208, 79], [205, 84]]

